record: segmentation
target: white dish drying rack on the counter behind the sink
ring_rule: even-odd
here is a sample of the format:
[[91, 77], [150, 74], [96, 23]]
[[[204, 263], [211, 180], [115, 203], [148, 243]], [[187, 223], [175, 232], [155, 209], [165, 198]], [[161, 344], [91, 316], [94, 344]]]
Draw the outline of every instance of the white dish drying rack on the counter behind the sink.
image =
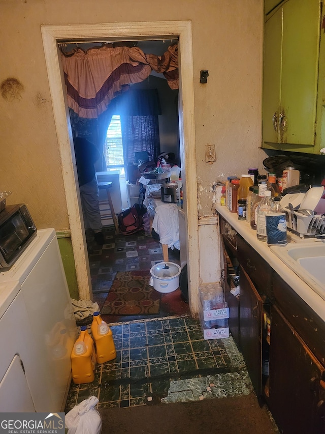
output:
[[287, 229], [296, 232], [300, 238], [325, 238], [325, 215], [306, 216], [296, 211], [284, 210], [287, 216]]

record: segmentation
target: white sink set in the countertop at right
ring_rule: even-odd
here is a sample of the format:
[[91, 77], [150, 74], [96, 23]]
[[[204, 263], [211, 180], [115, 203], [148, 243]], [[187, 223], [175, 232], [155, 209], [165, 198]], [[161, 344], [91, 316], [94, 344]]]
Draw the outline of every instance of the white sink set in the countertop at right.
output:
[[270, 249], [325, 300], [325, 242], [294, 243]]

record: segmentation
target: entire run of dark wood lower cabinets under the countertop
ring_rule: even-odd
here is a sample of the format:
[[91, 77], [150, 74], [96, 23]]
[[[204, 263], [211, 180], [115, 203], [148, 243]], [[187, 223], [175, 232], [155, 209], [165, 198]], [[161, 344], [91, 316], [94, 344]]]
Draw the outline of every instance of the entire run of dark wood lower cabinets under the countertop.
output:
[[240, 282], [239, 298], [225, 284], [229, 327], [257, 398], [281, 434], [325, 434], [324, 321], [222, 217], [220, 228], [225, 278], [236, 269]]

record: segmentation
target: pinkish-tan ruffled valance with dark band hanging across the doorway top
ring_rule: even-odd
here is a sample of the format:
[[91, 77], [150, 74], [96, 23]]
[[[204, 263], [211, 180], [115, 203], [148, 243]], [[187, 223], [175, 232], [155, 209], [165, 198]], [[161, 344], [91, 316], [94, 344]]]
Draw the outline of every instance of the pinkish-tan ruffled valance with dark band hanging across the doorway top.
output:
[[171, 89], [178, 89], [177, 44], [162, 56], [145, 54], [138, 47], [111, 44], [62, 53], [68, 105], [81, 118], [95, 119], [107, 110], [129, 84], [145, 80], [156, 71], [163, 73]]

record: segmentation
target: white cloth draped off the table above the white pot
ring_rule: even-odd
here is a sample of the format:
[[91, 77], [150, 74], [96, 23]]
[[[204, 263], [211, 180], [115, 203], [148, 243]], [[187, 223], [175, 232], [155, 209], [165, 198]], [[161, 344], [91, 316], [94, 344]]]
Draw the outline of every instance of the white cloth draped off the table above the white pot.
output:
[[152, 227], [159, 235], [160, 243], [180, 250], [177, 205], [161, 202], [161, 205], [157, 205], [154, 211]]

